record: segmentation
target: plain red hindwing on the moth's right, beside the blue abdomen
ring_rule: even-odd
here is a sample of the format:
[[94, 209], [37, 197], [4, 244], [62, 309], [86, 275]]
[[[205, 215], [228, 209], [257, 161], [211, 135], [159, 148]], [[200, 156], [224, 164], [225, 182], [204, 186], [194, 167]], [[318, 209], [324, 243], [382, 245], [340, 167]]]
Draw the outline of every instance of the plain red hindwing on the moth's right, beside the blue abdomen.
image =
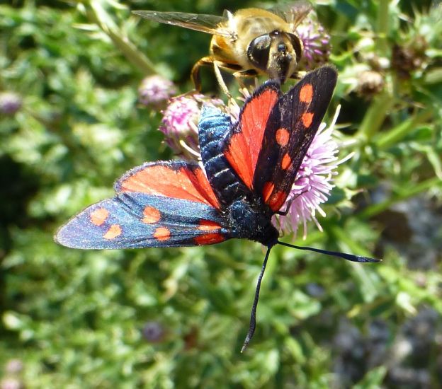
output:
[[261, 151], [268, 117], [277, 99], [277, 91], [271, 88], [254, 95], [244, 105], [239, 117], [239, 132], [232, 135], [225, 151], [230, 166], [249, 189], [253, 187], [256, 162]]

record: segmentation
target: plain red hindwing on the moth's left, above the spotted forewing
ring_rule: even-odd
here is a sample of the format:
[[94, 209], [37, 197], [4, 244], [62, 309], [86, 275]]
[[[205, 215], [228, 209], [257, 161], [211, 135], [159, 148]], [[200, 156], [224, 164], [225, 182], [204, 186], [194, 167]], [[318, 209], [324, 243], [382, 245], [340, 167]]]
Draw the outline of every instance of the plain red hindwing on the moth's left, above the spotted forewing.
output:
[[120, 181], [123, 192], [141, 192], [201, 202], [220, 208], [215, 193], [200, 167], [149, 165]]

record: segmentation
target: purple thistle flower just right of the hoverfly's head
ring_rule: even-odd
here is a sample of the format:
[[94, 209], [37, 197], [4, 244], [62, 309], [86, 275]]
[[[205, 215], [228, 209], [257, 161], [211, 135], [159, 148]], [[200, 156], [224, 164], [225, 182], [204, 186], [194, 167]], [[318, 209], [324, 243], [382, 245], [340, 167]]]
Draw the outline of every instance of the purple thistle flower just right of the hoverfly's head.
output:
[[301, 69], [314, 69], [328, 62], [330, 55], [330, 35], [316, 18], [306, 18], [296, 28], [297, 36], [304, 45], [304, 53], [300, 60]]

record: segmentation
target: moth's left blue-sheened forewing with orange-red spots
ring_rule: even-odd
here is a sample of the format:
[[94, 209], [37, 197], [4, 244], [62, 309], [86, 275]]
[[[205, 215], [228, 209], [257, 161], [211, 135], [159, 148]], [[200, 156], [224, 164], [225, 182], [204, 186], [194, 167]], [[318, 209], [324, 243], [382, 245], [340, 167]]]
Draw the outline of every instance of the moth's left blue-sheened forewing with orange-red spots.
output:
[[55, 240], [83, 249], [208, 245], [230, 238], [224, 225], [217, 209], [206, 204], [123, 192], [81, 211]]

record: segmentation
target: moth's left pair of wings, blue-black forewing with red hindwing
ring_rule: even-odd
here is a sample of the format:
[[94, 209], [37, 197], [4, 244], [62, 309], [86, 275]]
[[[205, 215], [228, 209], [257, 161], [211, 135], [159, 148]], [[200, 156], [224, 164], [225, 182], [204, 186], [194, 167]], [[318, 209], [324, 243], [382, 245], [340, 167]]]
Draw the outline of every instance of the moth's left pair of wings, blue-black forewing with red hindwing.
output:
[[196, 164], [147, 163], [123, 175], [115, 190], [115, 197], [91, 205], [62, 226], [57, 243], [118, 249], [210, 245], [231, 238]]

